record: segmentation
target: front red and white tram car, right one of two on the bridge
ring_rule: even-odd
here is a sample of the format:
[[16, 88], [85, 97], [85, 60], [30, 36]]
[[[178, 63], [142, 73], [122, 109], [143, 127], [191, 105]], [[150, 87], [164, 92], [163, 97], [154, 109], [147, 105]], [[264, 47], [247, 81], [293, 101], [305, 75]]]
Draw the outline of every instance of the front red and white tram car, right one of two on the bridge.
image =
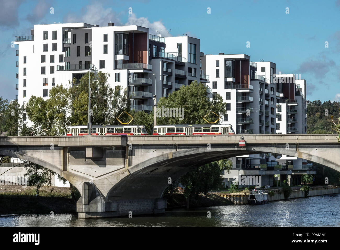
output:
[[231, 124], [156, 125], [153, 135], [233, 135]]

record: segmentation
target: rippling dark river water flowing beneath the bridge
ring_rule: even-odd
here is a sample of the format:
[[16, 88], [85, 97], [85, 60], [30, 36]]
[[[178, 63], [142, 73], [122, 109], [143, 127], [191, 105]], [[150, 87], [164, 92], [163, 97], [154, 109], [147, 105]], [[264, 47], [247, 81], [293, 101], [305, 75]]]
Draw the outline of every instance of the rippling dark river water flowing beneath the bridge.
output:
[[[229, 205], [176, 209], [165, 215], [78, 219], [77, 214], [0, 216], [0, 226], [340, 226], [340, 194], [273, 201], [265, 205]], [[208, 212], [211, 217], [208, 218]]]

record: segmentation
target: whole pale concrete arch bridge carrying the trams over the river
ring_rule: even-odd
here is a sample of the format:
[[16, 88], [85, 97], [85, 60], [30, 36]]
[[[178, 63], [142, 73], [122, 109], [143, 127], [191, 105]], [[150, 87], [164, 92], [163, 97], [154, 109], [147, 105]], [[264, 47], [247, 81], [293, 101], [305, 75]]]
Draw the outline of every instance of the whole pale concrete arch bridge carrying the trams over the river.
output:
[[164, 213], [164, 190], [184, 173], [229, 157], [277, 153], [340, 171], [335, 134], [1, 137], [0, 155], [46, 167], [81, 193], [79, 218]]

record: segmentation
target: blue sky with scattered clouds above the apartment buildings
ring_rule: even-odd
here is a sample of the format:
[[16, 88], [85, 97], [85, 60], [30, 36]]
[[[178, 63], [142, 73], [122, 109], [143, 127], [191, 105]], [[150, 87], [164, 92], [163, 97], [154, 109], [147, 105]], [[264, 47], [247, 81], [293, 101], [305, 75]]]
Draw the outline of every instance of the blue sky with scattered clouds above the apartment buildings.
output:
[[0, 96], [6, 99], [17, 95], [17, 46], [11, 48], [15, 36], [30, 35], [33, 24], [107, 26], [112, 21], [145, 26], [151, 34], [163, 30], [165, 36], [168, 29], [172, 36], [186, 33], [201, 39], [201, 51], [206, 54], [244, 53], [251, 61], [274, 62], [277, 73], [297, 73], [306, 79], [307, 99], [340, 101], [340, 0], [0, 0], [0, 6]]

